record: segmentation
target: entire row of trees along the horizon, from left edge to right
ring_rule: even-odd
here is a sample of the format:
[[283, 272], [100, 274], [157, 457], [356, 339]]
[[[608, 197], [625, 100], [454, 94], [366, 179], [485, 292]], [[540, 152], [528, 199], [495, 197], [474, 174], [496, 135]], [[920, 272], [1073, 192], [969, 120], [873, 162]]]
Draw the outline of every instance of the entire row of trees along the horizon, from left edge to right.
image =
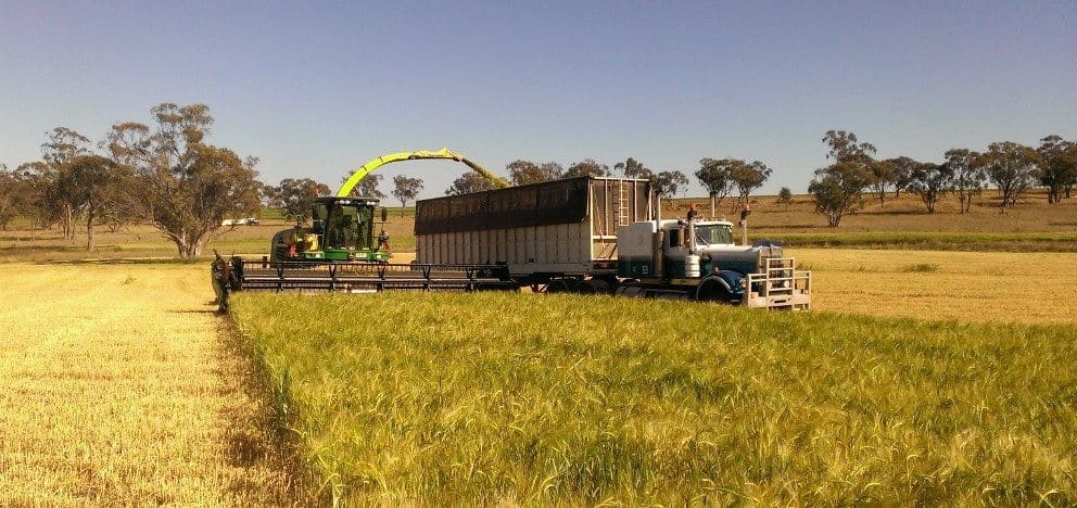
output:
[[[240, 157], [207, 141], [212, 124], [206, 105], [163, 103], [150, 110], [149, 123], [117, 123], [97, 143], [73, 129], [56, 127], [47, 132], [40, 160], [14, 169], [0, 164], [0, 228], [7, 229], [16, 216], [23, 216], [35, 228], [59, 227], [65, 239], [73, 240], [76, 227], [85, 227], [87, 249], [92, 250], [98, 226], [115, 231], [148, 223], [175, 243], [180, 257], [192, 257], [202, 253], [225, 218], [273, 206], [289, 219], [304, 221], [315, 198], [331, 192], [311, 178], [286, 178], [277, 186], [258, 181], [256, 157]], [[1056, 135], [1044, 137], [1035, 149], [1012, 141], [990, 143], [983, 152], [952, 149], [943, 154], [942, 163], [904, 156], [876, 160], [873, 144], [844, 130], [827, 131], [823, 143], [833, 163], [814, 172], [808, 192], [814, 198], [815, 211], [835, 227], [846, 214], [863, 206], [864, 193], [885, 206], [891, 195], [910, 192], [921, 198], [927, 213], [935, 213], [939, 200], [953, 194], [961, 213], [968, 213], [988, 183], [998, 189], [1003, 211], [1037, 183], [1048, 189], [1049, 203], [1070, 198], [1077, 183], [1077, 143]], [[681, 193], [689, 181], [681, 170], [654, 170], [633, 157], [612, 167], [585, 158], [568, 168], [523, 160], [505, 168], [516, 186], [617, 173], [651, 180], [663, 198]], [[772, 173], [760, 161], [705, 157], [694, 176], [706, 189], [714, 216], [727, 196], [733, 198], [733, 211], [747, 207], [750, 194]], [[382, 179], [382, 175], [368, 175], [353, 195], [387, 198], [379, 190]], [[401, 202], [403, 216], [403, 207], [418, 198], [423, 181], [398, 175], [393, 187], [391, 193]], [[481, 175], [467, 172], [445, 194], [491, 188]], [[789, 203], [791, 198], [788, 188], [778, 194], [780, 202]]]

